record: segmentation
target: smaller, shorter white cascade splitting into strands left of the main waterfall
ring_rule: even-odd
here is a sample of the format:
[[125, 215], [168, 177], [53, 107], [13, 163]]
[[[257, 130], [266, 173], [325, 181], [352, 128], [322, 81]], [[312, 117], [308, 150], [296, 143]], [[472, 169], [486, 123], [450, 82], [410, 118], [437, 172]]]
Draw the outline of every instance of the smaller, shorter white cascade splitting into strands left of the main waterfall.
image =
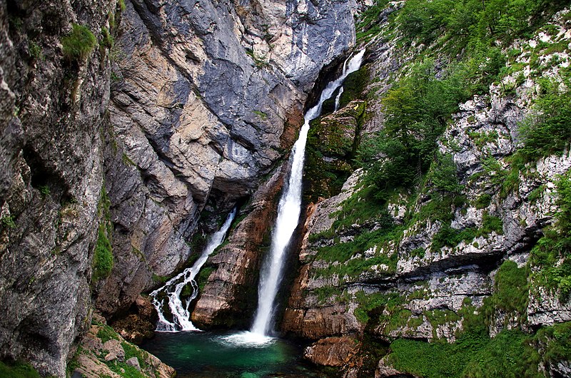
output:
[[[166, 284], [151, 292], [151, 297], [153, 298], [153, 305], [156, 308], [156, 312], [158, 312], [158, 322], [156, 325], [157, 331], [162, 332], [178, 332], [178, 331], [198, 331], [198, 328], [194, 327], [191, 322], [191, 314], [188, 311], [188, 306], [191, 302], [196, 298], [198, 295], [198, 285], [194, 280], [194, 277], [198, 275], [200, 272], [202, 265], [208, 260], [208, 256], [211, 255], [218, 245], [221, 245], [226, 233], [228, 232], [228, 228], [232, 224], [232, 220], [236, 216], [236, 208], [233, 208], [226, 221], [220, 228], [220, 230], [216, 231], [208, 241], [208, 245], [204, 248], [201, 257], [198, 257], [198, 260], [194, 262], [192, 267], [187, 267], [183, 272], [176, 275], [176, 277], [171, 278], [168, 280]], [[192, 285], [193, 293], [191, 297], [186, 300], [186, 304], [183, 305], [181, 300], [181, 292], [186, 285]], [[171, 314], [173, 315], [173, 322], [169, 322], [165, 315], [163, 314], [163, 300], [158, 299], [158, 295], [163, 292], [166, 294], [166, 299], [168, 300], [168, 308], [171, 310]]]

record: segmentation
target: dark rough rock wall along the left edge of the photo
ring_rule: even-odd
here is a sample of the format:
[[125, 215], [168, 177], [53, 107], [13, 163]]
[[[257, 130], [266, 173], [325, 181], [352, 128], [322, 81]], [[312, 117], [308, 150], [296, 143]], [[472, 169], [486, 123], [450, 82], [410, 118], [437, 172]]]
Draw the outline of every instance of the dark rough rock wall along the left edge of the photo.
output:
[[[81, 24], [101, 39], [114, 2], [0, 4], [0, 357], [65, 374], [89, 321], [102, 183], [108, 48], [65, 58]], [[97, 44], [97, 41], [94, 42]]]

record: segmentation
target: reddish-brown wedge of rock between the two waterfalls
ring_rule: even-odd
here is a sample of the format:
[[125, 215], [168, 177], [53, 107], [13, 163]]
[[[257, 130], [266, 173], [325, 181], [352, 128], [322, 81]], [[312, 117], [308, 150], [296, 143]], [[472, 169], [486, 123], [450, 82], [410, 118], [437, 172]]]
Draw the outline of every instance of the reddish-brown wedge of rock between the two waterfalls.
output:
[[257, 303], [261, 256], [268, 250], [271, 225], [287, 167], [282, 165], [243, 209], [246, 218], [231, 230], [228, 243], [210, 257], [213, 270], [192, 313], [198, 327], [249, 327]]

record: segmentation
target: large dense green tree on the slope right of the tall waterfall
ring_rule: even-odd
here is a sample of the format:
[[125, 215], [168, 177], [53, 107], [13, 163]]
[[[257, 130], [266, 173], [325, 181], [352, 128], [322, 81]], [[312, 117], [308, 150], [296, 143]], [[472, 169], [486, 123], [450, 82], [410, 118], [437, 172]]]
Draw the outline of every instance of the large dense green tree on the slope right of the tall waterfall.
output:
[[[358, 159], [368, 168], [366, 179], [377, 188], [378, 198], [386, 200], [391, 190], [418, 183], [428, 172], [435, 160], [436, 141], [467, 95], [458, 72], [450, 69], [436, 78], [431, 60], [413, 65], [388, 91], [383, 98], [385, 128], [358, 150]], [[443, 173], [453, 169], [450, 158], [440, 157], [435, 168], [437, 182], [458, 191], [458, 185], [442, 180]]]

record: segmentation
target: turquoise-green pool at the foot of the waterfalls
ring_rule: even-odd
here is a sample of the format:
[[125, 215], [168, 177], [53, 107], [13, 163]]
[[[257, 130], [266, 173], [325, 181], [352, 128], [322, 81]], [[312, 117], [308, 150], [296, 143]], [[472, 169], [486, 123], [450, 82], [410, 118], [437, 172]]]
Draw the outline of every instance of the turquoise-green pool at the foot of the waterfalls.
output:
[[299, 345], [247, 342], [242, 334], [156, 332], [142, 347], [174, 367], [178, 378], [324, 377], [303, 363]]

